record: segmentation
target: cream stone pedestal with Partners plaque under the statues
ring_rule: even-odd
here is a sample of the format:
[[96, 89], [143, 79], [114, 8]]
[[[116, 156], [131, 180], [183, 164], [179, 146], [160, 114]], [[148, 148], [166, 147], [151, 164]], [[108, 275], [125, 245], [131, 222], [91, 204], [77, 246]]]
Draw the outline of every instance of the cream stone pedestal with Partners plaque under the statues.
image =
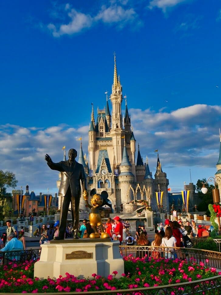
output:
[[40, 260], [34, 265], [34, 277], [42, 279], [65, 277], [68, 272], [80, 278], [92, 279], [92, 274], [107, 278], [117, 271], [124, 273], [119, 241], [109, 239], [79, 239], [51, 241], [41, 245]]

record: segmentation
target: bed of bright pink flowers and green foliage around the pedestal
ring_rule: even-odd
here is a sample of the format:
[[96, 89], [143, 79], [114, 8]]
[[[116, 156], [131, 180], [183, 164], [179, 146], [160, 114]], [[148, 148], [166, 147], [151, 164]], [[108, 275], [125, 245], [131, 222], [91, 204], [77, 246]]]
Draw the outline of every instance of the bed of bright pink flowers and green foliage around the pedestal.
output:
[[[11, 263], [0, 268], [0, 292], [1, 293], [49, 293], [49, 292], [90, 292], [120, 289], [136, 289], [157, 287], [168, 284], [177, 284], [169, 294], [175, 295], [182, 291], [182, 284], [221, 275], [215, 268], [209, 268], [203, 262], [196, 264], [191, 258], [191, 263], [179, 259], [134, 258], [132, 255], [124, 257], [125, 273], [120, 279], [116, 279], [117, 272], [113, 272], [108, 278], [92, 274], [93, 279], [79, 279], [71, 274], [60, 277], [57, 280], [48, 278], [40, 280], [33, 278], [34, 263], [26, 262], [22, 265]], [[210, 282], [211, 283], [211, 282]], [[179, 284], [181, 284], [179, 286]], [[201, 286], [203, 284], [203, 286]], [[209, 280], [208, 280], [209, 284]], [[195, 287], [205, 288], [204, 283]], [[188, 292], [188, 285], [185, 287]], [[189, 286], [191, 289], [191, 286]], [[143, 294], [135, 292], [134, 294]], [[191, 290], [190, 290], [191, 291]], [[156, 293], [153, 290], [154, 293]], [[117, 294], [117, 293], [116, 293]], [[121, 294], [121, 293], [118, 293]], [[151, 294], [148, 292], [148, 294]], [[203, 294], [203, 293], [201, 293]], [[206, 294], [206, 291], [205, 293]]]

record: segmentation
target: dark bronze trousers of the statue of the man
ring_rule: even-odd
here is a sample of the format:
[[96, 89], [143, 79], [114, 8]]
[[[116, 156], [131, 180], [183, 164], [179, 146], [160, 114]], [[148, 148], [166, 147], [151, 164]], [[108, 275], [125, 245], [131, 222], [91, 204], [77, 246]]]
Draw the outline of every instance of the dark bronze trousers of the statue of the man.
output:
[[60, 226], [59, 235], [61, 239], [64, 239], [65, 230], [67, 227], [67, 213], [69, 205], [71, 202], [71, 213], [72, 213], [72, 226], [74, 228], [74, 235], [78, 235], [78, 224], [79, 224], [79, 205], [80, 205], [80, 195], [71, 196], [70, 186], [67, 189], [66, 195], [61, 197], [60, 201]]

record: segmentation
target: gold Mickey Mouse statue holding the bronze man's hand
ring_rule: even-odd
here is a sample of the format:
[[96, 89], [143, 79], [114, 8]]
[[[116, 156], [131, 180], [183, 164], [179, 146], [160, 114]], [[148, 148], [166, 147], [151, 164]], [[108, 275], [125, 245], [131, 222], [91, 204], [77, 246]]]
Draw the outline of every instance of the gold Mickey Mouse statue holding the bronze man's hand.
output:
[[[106, 193], [106, 192], [105, 192]], [[91, 213], [89, 215], [89, 221], [90, 221], [90, 225], [93, 227], [94, 229], [94, 233], [90, 234], [90, 238], [109, 238], [109, 234], [104, 232], [104, 228], [102, 226], [102, 219], [101, 219], [101, 215], [99, 212], [98, 207], [102, 206], [103, 204], [103, 198], [101, 195], [96, 194], [96, 189], [92, 189], [91, 191], [91, 205], [88, 203], [88, 194], [87, 193], [83, 193], [84, 199], [85, 199], [85, 203], [88, 206], [88, 208], [91, 209]], [[99, 227], [99, 229], [101, 230], [101, 236], [98, 233], [98, 229], [97, 227]]]

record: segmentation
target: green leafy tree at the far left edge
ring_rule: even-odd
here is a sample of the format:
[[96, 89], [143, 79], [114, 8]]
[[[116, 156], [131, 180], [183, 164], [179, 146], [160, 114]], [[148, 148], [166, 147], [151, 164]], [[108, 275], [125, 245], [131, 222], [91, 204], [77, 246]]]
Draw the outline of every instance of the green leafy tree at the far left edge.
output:
[[[15, 188], [18, 181], [15, 174], [10, 171], [0, 170], [0, 211], [3, 212], [5, 208], [5, 201], [12, 201], [12, 194], [6, 192], [6, 188]], [[0, 218], [2, 219], [3, 214]]]

